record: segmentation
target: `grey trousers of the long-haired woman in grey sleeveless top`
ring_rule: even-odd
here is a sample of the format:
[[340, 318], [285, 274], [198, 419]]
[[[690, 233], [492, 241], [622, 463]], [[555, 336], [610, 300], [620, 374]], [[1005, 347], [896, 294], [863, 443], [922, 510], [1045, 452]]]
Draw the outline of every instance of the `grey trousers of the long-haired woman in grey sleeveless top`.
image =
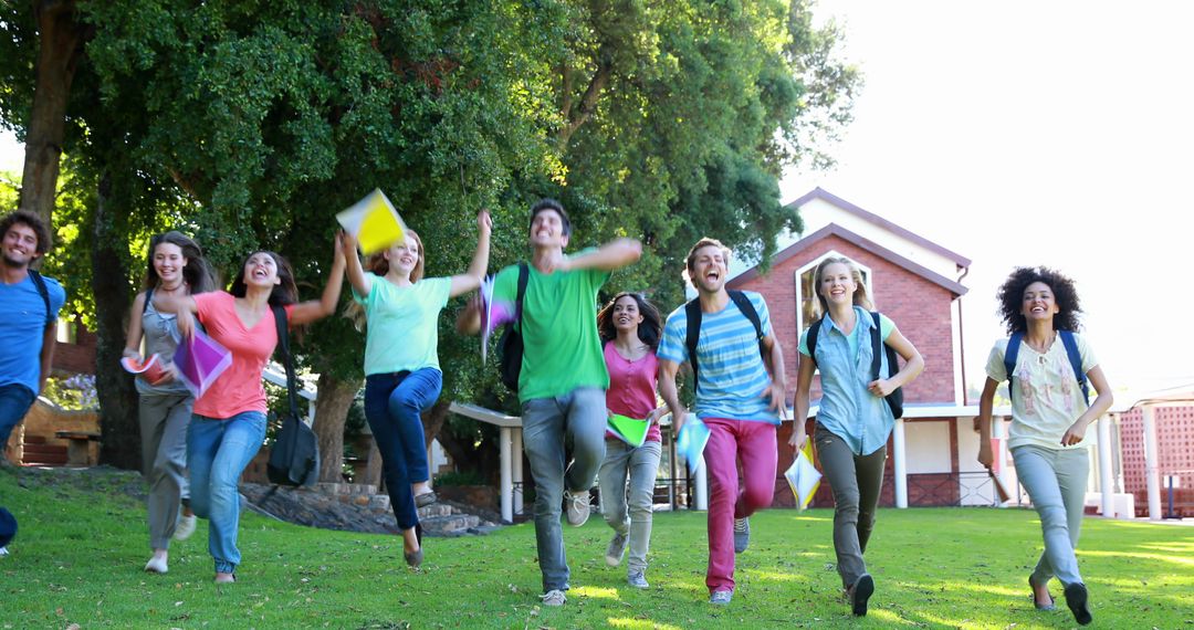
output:
[[186, 480], [186, 425], [191, 421], [190, 394], [143, 395], [137, 416], [141, 422], [141, 471], [149, 484], [149, 546], [170, 549], [179, 505], [190, 499]]

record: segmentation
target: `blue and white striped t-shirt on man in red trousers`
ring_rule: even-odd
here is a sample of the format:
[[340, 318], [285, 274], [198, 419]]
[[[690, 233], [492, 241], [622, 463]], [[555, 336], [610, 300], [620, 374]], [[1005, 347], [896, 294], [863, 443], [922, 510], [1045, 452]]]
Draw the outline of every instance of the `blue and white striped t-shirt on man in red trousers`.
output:
[[[758, 313], [763, 334], [771, 334], [771, 317], [763, 296], [743, 291]], [[664, 339], [657, 356], [660, 360], [688, 360], [688, 314], [681, 305], [667, 316]], [[771, 379], [758, 352], [755, 325], [746, 319], [733, 301], [726, 302], [720, 313], [701, 315], [701, 334], [696, 342], [700, 379], [696, 388], [697, 418], [726, 418], [755, 422], [780, 424], [780, 418], [768, 408], [763, 397]]]

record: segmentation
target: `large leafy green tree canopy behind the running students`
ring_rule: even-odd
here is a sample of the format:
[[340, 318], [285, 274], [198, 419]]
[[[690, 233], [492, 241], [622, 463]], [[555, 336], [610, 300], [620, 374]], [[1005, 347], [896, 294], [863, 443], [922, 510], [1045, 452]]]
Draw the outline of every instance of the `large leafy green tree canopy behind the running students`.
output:
[[[189, 226], [229, 273], [254, 248], [278, 249], [313, 297], [332, 215], [373, 187], [421, 234], [429, 274], [464, 268], [482, 205], [494, 215], [491, 268], [525, 257], [528, 203], [560, 197], [574, 245], [647, 243], [651, 255], [611, 289], [648, 289], [671, 307], [677, 261], [697, 235], [765, 260], [774, 235], [798, 226], [777, 178], [816, 155], [811, 132], [848, 121], [857, 84], [831, 54], [837, 33], [810, 26], [804, 0], [112, 0], [82, 2], [78, 16], [93, 36], [72, 97], [86, 107], [67, 117], [81, 132], [72, 142], [68, 125], [67, 148], [96, 186], [80, 245], [96, 264], [124, 265], [96, 280], [97, 319], [112, 331], [149, 230]], [[36, 32], [27, 11], [6, 18], [24, 20], [25, 41]], [[0, 67], [14, 68], [0, 78], [0, 113], [23, 129], [20, 99], [4, 94], [33, 74]], [[450, 400], [516, 404], [476, 341], [444, 320], [429, 439]], [[340, 317], [298, 344], [320, 375], [324, 478], [338, 475], [362, 346]], [[457, 458], [492, 450], [469, 422], [449, 433]]]

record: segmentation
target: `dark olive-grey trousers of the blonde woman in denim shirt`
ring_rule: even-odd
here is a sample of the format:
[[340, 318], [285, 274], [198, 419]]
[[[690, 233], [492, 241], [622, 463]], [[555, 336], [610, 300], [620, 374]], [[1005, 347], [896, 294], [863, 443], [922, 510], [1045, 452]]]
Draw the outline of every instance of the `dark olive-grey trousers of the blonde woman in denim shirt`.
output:
[[842, 587], [849, 588], [867, 573], [862, 554], [875, 527], [879, 492], [884, 487], [887, 446], [870, 455], [856, 455], [820, 424], [813, 433], [825, 478], [833, 490], [833, 550]]

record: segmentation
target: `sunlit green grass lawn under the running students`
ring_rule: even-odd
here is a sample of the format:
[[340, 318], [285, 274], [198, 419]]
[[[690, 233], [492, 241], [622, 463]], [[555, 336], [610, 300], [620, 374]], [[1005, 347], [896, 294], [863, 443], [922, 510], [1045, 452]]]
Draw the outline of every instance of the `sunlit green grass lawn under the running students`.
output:
[[[60, 474], [61, 475], [61, 474]], [[239, 582], [211, 582], [207, 523], [176, 543], [170, 574], [149, 557], [144, 508], [129, 475], [74, 472], [47, 484], [0, 470], [0, 505], [20, 519], [0, 558], [0, 628], [1071, 628], [1038, 612], [1027, 575], [1040, 551], [1033, 512], [882, 509], [867, 552], [876, 592], [854, 619], [833, 570], [832, 512], [775, 509], [752, 519], [733, 604], [704, 588], [704, 514], [656, 514], [651, 588], [607, 568], [610, 530], [565, 526], [572, 591], [540, 605], [530, 524], [486, 537], [431, 538], [421, 572], [398, 537], [293, 526], [246, 514]], [[1194, 625], [1194, 529], [1088, 519], [1078, 557], [1095, 625]]]

